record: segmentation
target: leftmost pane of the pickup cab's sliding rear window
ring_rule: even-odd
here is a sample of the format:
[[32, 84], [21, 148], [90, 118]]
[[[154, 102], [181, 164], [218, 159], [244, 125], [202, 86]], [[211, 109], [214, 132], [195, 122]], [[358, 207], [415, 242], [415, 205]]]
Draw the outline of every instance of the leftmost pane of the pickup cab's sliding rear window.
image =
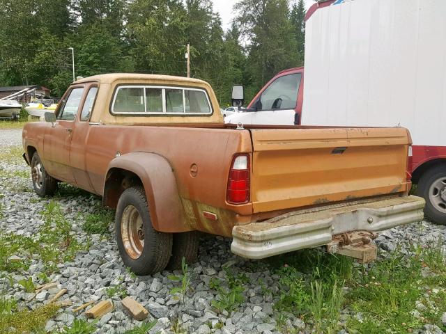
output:
[[113, 111], [116, 113], [144, 113], [144, 88], [120, 87], [116, 93]]

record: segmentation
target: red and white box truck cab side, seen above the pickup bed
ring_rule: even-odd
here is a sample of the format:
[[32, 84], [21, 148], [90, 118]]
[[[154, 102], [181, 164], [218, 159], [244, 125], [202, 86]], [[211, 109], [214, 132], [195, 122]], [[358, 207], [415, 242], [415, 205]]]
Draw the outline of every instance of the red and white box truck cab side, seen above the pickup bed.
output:
[[300, 125], [304, 67], [279, 72], [248, 104], [247, 109], [224, 118], [226, 123]]

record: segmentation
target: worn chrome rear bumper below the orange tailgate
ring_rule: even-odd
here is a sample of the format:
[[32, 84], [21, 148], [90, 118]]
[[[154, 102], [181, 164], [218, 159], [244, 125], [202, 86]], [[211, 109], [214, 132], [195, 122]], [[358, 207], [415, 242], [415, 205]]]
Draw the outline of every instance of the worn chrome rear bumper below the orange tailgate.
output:
[[343, 232], [381, 231], [421, 221], [424, 204], [423, 198], [403, 196], [289, 212], [261, 223], [235, 226], [231, 251], [248, 259], [263, 259], [323, 246]]

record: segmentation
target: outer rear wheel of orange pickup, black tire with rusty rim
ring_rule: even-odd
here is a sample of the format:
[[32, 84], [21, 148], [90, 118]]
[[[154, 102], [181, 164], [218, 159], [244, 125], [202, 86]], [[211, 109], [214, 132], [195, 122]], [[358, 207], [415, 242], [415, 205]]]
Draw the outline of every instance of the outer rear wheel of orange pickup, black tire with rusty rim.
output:
[[141, 186], [126, 189], [116, 207], [116, 241], [125, 266], [144, 276], [164, 270], [172, 252], [172, 234], [153, 228]]

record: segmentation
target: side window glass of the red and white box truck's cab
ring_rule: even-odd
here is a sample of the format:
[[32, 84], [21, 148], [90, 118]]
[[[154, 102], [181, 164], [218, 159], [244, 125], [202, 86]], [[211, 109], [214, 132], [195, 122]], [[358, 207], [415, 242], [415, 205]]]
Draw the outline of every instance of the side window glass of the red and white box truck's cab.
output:
[[295, 109], [302, 74], [284, 75], [272, 81], [260, 97], [259, 111]]

